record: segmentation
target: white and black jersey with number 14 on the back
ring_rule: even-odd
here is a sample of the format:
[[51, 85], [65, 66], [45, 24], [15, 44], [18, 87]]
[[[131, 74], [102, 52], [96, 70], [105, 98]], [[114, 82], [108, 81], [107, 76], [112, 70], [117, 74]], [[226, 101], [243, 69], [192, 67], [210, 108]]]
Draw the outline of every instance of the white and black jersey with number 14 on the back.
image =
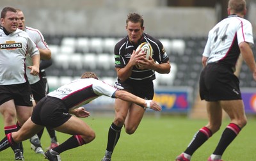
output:
[[203, 56], [208, 57], [207, 64], [221, 63], [234, 67], [241, 42], [248, 42], [251, 47], [254, 45], [252, 24], [237, 15], [230, 15], [209, 31]]

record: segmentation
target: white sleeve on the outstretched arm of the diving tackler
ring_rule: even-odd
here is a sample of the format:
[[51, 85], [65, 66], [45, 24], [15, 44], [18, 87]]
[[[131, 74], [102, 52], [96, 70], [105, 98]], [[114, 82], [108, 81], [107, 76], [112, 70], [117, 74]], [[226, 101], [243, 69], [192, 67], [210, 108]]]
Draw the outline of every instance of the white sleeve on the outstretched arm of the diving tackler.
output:
[[94, 93], [96, 93], [97, 95], [105, 95], [105, 96], [109, 96], [111, 98], [115, 98], [115, 92], [116, 92], [116, 88], [114, 88], [113, 86], [110, 86], [109, 84], [106, 84], [105, 82], [99, 81], [99, 80], [95, 80], [95, 82], [93, 82], [93, 91]]

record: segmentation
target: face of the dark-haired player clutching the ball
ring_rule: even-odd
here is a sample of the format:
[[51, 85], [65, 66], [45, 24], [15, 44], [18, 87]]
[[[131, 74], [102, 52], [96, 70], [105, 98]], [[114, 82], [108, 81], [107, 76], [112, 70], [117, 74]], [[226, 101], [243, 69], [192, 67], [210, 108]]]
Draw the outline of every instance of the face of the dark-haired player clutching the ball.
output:
[[144, 31], [144, 26], [141, 27], [140, 22], [134, 23], [134, 22], [127, 22], [126, 30], [129, 36], [129, 39], [132, 43], [138, 43], [140, 40], [143, 31]]

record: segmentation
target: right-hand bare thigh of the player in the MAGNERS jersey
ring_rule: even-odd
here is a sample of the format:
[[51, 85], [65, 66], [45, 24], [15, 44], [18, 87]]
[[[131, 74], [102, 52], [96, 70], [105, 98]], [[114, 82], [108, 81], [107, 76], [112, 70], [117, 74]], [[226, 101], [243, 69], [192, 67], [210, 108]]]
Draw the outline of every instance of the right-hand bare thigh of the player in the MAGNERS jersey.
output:
[[16, 111], [19, 123], [24, 124], [27, 121], [27, 119], [31, 116], [33, 107], [16, 105]]

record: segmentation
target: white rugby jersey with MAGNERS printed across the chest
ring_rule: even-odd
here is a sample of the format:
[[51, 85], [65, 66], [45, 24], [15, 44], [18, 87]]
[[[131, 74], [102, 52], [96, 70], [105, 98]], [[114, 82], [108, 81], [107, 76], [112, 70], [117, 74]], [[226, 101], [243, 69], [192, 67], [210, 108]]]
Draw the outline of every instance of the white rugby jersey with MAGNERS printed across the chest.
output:
[[25, 31], [17, 29], [6, 35], [0, 27], [0, 85], [26, 82], [25, 58], [39, 54], [35, 43]]

